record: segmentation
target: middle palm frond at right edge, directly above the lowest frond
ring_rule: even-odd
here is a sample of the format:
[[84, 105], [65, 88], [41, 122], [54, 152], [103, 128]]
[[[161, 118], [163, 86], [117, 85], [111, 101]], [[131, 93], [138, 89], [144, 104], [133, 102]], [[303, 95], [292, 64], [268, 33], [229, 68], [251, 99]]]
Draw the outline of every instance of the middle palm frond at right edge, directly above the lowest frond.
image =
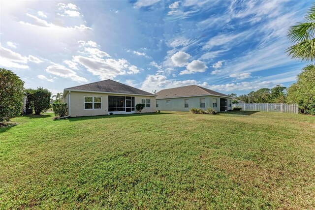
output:
[[287, 36], [293, 43], [309, 40], [314, 38], [315, 23], [298, 23], [291, 26], [287, 32]]

